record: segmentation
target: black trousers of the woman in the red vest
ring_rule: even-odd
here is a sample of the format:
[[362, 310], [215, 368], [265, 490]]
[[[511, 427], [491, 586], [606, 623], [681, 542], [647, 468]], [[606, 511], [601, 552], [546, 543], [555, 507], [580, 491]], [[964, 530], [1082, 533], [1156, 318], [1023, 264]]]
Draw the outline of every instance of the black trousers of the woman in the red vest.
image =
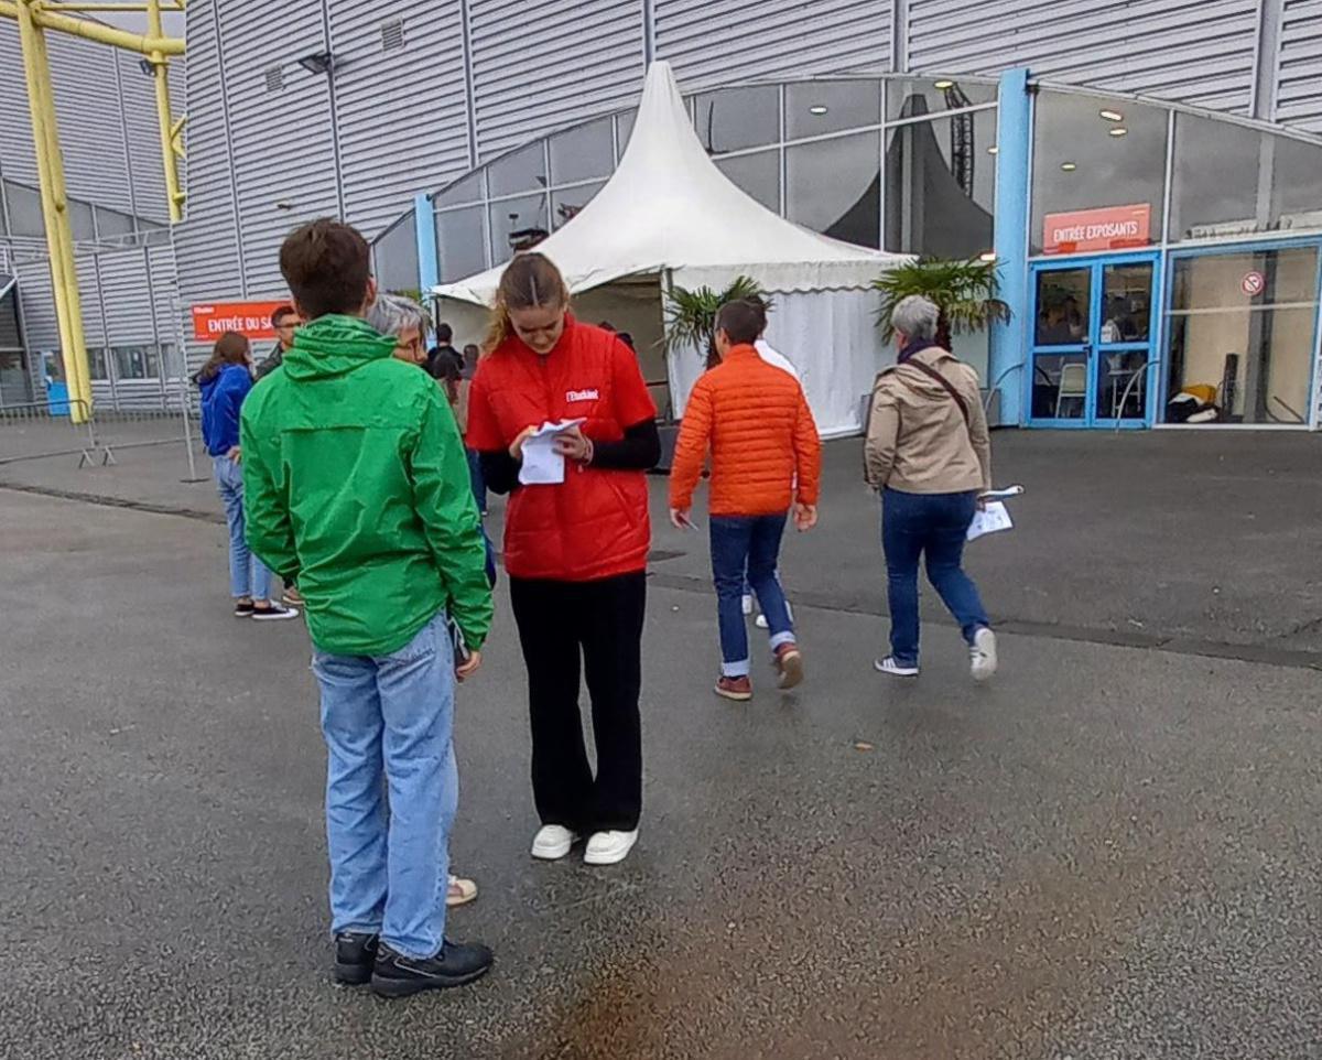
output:
[[[598, 582], [509, 579], [527, 665], [533, 797], [543, 825], [632, 831], [642, 812], [642, 620], [646, 575]], [[592, 699], [596, 777], [579, 712], [579, 660]]]

